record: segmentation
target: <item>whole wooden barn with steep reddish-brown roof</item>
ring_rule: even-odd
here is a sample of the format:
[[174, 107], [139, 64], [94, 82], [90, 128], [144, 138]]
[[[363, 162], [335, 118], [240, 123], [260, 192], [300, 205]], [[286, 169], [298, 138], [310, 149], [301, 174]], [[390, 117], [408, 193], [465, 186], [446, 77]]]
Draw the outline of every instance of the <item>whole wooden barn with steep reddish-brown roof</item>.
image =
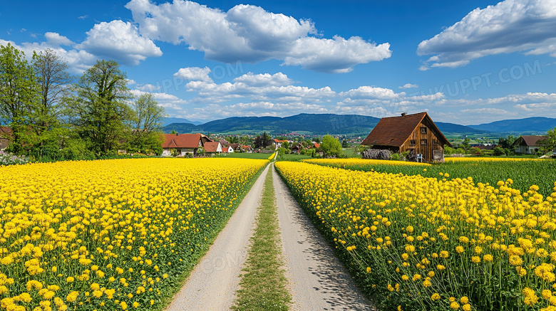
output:
[[423, 162], [443, 161], [444, 145], [451, 146], [426, 112], [383, 117], [361, 144], [393, 152], [408, 151], [415, 157], [422, 154]]

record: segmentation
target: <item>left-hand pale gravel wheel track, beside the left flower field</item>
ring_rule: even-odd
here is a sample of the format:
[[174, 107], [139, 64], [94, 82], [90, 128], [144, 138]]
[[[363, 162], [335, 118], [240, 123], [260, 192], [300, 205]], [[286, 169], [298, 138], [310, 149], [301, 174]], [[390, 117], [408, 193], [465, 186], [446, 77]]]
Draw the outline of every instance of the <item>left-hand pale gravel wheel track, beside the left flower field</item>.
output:
[[240, 283], [240, 273], [268, 169], [269, 166], [255, 181], [215, 243], [192, 270], [185, 285], [166, 310], [230, 310]]

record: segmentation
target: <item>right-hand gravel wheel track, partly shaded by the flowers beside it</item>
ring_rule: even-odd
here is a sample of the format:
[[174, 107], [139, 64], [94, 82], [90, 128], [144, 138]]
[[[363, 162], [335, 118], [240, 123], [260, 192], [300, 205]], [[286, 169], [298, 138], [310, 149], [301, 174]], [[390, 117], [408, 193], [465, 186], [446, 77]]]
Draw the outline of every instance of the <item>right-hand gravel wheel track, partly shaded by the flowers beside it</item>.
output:
[[274, 169], [272, 174], [292, 310], [375, 310]]

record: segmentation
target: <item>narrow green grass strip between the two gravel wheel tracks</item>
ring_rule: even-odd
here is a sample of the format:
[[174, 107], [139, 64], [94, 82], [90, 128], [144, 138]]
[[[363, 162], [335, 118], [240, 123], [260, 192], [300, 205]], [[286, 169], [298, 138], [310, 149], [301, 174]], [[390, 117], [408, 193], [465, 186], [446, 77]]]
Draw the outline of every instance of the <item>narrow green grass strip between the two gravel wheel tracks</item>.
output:
[[237, 290], [232, 310], [289, 310], [292, 298], [287, 291], [287, 279], [282, 270], [282, 246], [280, 245], [278, 215], [272, 169], [264, 180], [264, 190], [257, 228], [251, 238], [244, 274]]

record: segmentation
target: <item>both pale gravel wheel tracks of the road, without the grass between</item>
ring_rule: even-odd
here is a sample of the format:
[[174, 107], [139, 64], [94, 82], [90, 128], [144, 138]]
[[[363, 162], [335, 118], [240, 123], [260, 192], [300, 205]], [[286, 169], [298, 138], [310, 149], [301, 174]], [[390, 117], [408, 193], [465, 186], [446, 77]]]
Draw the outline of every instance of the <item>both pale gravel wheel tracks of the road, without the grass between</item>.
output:
[[374, 310], [269, 165], [166, 309], [230, 310], [253, 232], [264, 177], [272, 168], [291, 310]]

